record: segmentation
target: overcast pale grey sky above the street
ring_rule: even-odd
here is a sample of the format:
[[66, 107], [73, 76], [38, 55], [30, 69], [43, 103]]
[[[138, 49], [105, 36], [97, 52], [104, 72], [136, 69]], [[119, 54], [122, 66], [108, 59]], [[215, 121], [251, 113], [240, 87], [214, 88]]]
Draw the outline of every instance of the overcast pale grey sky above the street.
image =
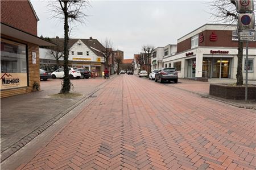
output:
[[[31, 0], [39, 17], [38, 36], [63, 38], [63, 21], [51, 19], [47, 4], [52, 1]], [[177, 39], [210, 22], [207, 1], [90, 1], [85, 14], [86, 25], [77, 23], [72, 38], [92, 36], [103, 42], [113, 41], [125, 59], [141, 52], [143, 44], [163, 47], [176, 44]]]

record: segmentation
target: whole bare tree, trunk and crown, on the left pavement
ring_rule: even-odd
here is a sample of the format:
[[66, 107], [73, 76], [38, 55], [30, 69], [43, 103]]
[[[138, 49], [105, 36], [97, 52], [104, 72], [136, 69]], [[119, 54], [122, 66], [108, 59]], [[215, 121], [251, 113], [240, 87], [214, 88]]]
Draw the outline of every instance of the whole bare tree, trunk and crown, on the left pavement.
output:
[[69, 23], [85, 22], [86, 15], [82, 12], [89, 2], [86, 0], [56, 0], [49, 4], [52, 18], [64, 20], [64, 80], [61, 83], [60, 93], [67, 94], [71, 90], [71, 81], [69, 80], [68, 70], [68, 40], [69, 40]]

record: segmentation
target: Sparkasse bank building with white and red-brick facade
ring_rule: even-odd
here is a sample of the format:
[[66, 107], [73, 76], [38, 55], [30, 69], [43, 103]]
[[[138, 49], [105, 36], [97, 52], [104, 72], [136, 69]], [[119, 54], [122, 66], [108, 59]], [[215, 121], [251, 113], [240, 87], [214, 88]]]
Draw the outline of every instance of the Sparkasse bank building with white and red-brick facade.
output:
[[[175, 67], [179, 77], [236, 78], [236, 26], [205, 24], [177, 40], [177, 53], [164, 57], [164, 67]], [[243, 52], [245, 77], [245, 49]], [[256, 42], [249, 42], [248, 79], [256, 80]]]

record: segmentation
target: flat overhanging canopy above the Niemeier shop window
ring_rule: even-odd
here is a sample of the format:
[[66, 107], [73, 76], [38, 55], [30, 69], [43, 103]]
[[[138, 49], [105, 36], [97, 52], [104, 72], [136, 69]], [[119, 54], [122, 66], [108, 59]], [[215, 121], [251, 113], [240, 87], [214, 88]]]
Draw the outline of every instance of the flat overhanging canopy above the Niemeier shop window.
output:
[[24, 42], [36, 44], [36, 45], [56, 45], [54, 43], [41, 39], [38, 36], [19, 30], [18, 28], [9, 26], [5, 23], [1, 23], [1, 34], [7, 35], [19, 40], [23, 40]]

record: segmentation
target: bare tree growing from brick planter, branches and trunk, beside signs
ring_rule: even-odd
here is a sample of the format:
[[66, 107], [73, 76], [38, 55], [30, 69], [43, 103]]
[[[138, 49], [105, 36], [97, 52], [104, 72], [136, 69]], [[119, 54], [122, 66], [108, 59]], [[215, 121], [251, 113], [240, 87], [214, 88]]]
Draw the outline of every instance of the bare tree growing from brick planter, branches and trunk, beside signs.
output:
[[[236, 0], [214, 0], [209, 3], [210, 14], [217, 23], [236, 24], [237, 23], [237, 11]], [[237, 29], [238, 30], [238, 29]], [[243, 42], [238, 42], [237, 53], [237, 85], [243, 85]]]

